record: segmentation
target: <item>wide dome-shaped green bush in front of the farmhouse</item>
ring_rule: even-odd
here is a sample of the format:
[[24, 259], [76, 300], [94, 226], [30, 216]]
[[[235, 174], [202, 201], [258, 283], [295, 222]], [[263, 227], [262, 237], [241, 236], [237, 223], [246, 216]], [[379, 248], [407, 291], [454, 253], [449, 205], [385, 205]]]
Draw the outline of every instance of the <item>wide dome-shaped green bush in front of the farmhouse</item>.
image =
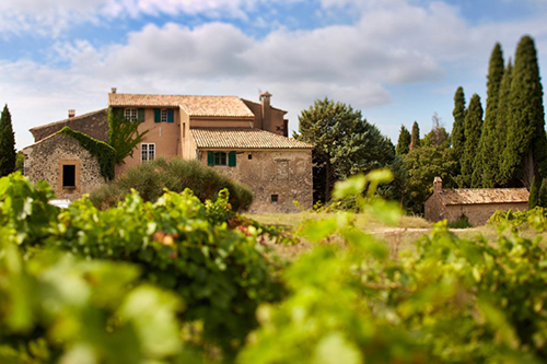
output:
[[189, 188], [201, 201], [213, 200], [220, 190], [228, 188], [230, 203], [235, 211], [246, 210], [253, 202], [253, 193], [247, 187], [197, 161], [181, 158], [168, 162], [159, 158], [129, 168], [123, 176], [97, 189], [91, 201], [101, 209], [114, 207], [131, 188], [146, 201], [158, 200], [165, 188], [175, 192]]

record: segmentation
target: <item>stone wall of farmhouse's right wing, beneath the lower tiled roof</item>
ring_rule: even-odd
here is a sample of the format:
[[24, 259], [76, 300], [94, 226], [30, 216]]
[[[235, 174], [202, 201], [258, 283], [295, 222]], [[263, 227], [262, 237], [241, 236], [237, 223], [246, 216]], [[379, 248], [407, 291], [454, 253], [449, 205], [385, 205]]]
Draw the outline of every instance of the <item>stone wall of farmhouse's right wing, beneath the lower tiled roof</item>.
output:
[[[251, 188], [254, 202], [248, 212], [299, 212], [293, 201], [304, 209], [313, 206], [311, 153], [311, 150], [238, 151], [235, 167], [211, 168]], [[198, 154], [199, 161], [207, 165], [207, 151]], [[275, 195], [277, 202], [272, 201]]]

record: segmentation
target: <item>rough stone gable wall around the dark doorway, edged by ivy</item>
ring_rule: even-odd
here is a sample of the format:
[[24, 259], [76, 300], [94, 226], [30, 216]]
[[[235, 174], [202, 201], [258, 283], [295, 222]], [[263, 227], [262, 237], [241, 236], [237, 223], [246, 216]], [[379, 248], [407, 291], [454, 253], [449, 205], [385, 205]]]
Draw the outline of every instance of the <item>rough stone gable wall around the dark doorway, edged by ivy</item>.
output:
[[[25, 175], [34, 183], [46, 180], [58, 198], [75, 200], [104, 184], [96, 157], [69, 136], [50, 136], [25, 148], [23, 153]], [[75, 166], [74, 187], [62, 186], [63, 165]]]

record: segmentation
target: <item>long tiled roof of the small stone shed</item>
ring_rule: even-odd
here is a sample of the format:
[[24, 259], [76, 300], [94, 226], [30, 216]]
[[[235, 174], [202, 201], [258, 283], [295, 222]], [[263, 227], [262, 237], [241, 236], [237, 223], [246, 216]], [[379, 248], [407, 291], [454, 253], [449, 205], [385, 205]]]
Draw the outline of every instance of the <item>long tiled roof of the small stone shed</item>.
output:
[[528, 202], [526, 188], [459, 188], [442, 189], [439, 197], [444, 204], [482, 204]]

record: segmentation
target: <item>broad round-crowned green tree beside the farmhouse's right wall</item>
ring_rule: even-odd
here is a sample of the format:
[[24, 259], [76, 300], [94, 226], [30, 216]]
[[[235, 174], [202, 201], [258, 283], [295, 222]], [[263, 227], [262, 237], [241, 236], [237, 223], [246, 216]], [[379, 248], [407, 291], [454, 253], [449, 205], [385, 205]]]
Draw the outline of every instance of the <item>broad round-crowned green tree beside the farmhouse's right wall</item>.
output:
[[294, 137], [314, 148], [314, 200], [328, 201], [334, 183], [391, 165], [392, 142], [363, 119], [360, 110], [325, 97], [299, 116]]

